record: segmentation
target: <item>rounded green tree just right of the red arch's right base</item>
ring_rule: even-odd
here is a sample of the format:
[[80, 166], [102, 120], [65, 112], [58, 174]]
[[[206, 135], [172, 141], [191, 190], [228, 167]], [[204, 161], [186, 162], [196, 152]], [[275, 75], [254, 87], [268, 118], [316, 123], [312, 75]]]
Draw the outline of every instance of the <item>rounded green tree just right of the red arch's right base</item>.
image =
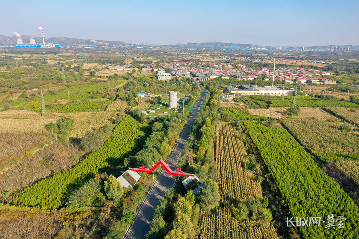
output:
[[211, 179], [205, 180], [200, 189], [199, 201], [206, 208], [213, 208], [219, 205], [218, 185]]

